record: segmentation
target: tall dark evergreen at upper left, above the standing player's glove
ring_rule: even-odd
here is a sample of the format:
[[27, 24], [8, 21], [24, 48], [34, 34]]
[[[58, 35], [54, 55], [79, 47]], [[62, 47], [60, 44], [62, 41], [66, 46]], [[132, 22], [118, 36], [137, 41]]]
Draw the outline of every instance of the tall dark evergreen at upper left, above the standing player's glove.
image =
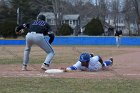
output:
[[39, 8], [37, 5], [35, 6], [35, 3], [33, 3], [32, 0], [11, 0], [10, 4], [15, 15], [17, 14], [17, 9], [19, 8], [21, 23], [35, 19], [39, 13]]

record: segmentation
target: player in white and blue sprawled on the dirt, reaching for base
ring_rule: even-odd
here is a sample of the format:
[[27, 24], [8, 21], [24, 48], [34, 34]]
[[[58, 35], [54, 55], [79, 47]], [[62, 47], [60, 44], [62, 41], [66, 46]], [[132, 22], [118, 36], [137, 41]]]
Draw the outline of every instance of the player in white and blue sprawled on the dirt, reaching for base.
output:
[[81, 70], [81, 71], [99, 71], [101, 69], [108, 69], [113, 65], [113, 58], [103, 61], [102, 58], [94, 56], [90, 53], [81, 53], [79, 60], [72, 66], [69, 66], [64, 69], [64, 72]]

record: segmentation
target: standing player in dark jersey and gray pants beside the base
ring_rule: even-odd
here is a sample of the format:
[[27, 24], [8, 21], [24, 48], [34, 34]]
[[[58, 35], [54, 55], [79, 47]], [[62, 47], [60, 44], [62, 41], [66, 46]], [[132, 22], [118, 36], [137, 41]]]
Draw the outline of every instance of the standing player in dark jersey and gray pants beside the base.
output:
[[[47, 70], [49, 68], [49, 65], [51, 64], [51, 60], [53, 59], [55, 54], [54, 50], [51, 47], [51, 43], [53, 42], [55, 36], [51, 30], [50, 25], [45, 20], [46, 17], [44, 15], [39, 15], [37, 17], [37, 20], [34, 20], [28, 24], [22, 24], [16, 28], [16, 34], [21, 34], [22, 29], [28, 29], [28, 33], [26, 35], [26, 46], [24, 49], [22, 66], [23, 71], [27, 71], [29, 54], [33, 44], [38, 45], [47, 53], [47, 57], [42, 64], [41, 69]], [[50, 37], [49, 41], [45, 39], [45, 35], [48, 35]]]

